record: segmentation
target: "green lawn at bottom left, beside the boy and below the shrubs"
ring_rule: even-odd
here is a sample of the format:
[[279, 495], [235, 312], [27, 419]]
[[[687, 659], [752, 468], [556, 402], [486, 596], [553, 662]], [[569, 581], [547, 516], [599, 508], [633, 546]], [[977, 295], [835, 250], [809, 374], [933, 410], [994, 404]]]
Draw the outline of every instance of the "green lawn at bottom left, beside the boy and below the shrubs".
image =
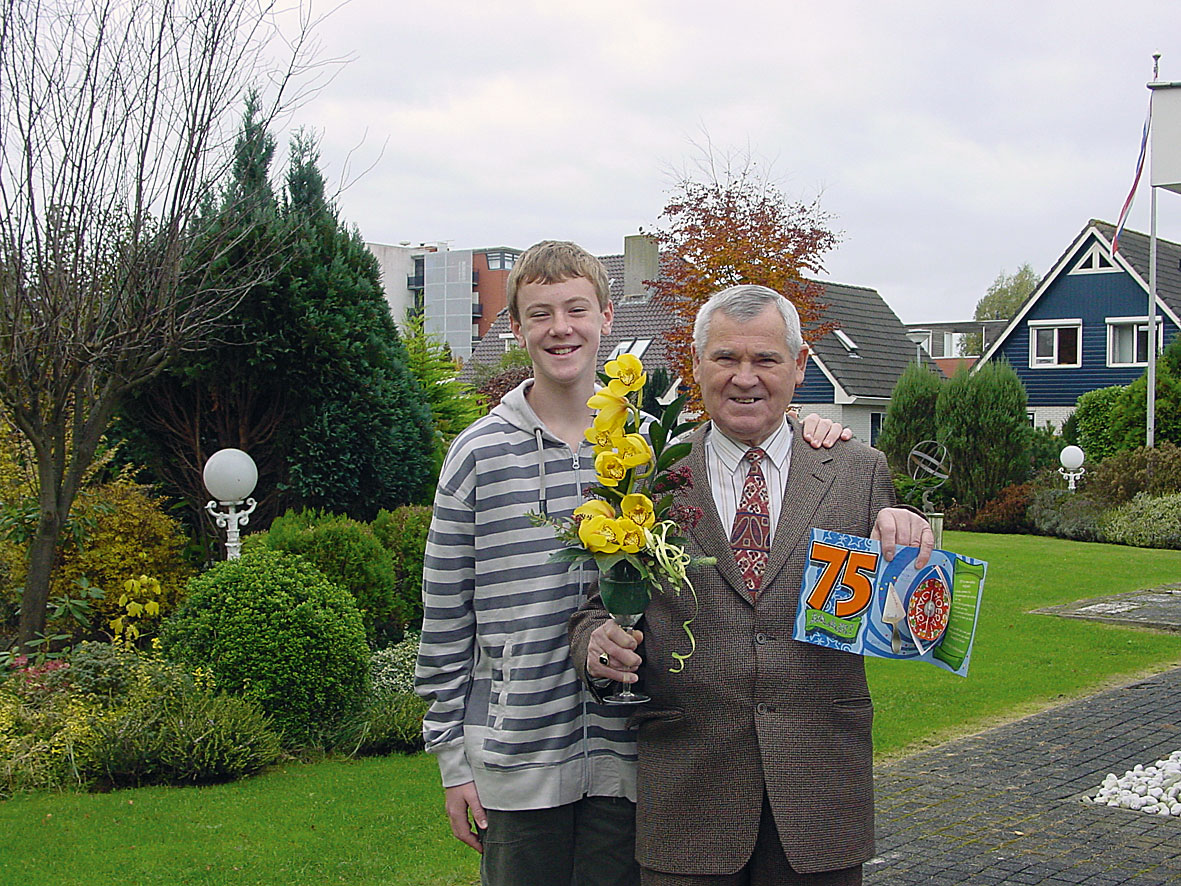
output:
[[432, 757], [283, 766], [208, 788], [0, 803], [4, 886], [471, 886]]

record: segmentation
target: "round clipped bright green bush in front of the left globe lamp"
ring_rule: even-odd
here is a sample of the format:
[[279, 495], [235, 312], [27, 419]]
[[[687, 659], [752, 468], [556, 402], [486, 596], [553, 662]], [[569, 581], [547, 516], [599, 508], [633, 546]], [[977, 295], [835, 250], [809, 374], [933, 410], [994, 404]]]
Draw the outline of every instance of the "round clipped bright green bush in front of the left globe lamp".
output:
[[352, 594], [300, 556], [257, 549], [189, 582], [161, 639], [218, 689], [259, 702], [287, 747], [322, 745], [361, 706], [368, 646]]

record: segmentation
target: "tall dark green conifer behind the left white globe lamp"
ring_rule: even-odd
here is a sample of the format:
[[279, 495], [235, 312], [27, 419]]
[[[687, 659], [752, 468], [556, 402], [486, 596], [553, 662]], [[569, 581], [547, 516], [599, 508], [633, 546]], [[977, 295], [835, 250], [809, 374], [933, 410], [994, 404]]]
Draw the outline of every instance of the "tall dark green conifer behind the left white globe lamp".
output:
[[[313, 142], [293, 139], [281, 197], [268, 184], [273, 154], [248, 105], [235, 177], [209, 209], [240, 232], [208, 275], [241, 280], [266, 256], [266, 282], [227, 317], [217, 341], [144, 389], [120, 425], [131, 457], [203, 528], [200, 465], [222, 447], [259, 465], [250, 525], [263, 529], [288, 508], [372, 520], [383, 507], [424, 501], [433, 476], [430, 408], [406, 369], [377, 260], [326, 197]], [[241, 194], [254, 195], [249, 211], [229, 198]]]

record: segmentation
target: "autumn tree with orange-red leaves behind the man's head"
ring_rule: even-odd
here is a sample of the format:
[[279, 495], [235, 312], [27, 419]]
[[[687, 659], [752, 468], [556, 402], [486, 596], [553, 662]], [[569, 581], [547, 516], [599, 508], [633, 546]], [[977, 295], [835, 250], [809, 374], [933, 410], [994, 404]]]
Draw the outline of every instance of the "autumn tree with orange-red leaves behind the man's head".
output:
[[782, 293], [800, 312], [805, 341], [833, 330], [822, 319], [824, 287], [804, 276], [823, 271], [821, 256], [837, 242], [818, 202], [789, 202], [746, 164], [706, 182], [683, 178], [660, 219], [652, 233], [660, 247], [660, 279], [647, 284], [680, 320], [665, 338], [670, 364], [689, 385], [690, 410], [704, 415], [693, 380], [693, 319], [719, 289], [758, 284]]

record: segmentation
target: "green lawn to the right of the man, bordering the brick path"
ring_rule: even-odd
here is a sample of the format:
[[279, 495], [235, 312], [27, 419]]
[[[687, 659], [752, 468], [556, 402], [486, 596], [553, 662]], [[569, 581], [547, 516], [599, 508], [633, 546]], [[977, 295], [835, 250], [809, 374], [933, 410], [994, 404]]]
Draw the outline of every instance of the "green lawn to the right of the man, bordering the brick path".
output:
[[874, 745], [890, 758], [1181, 664], [1181, 636], [1031, 610], [1181, 581], [1181, 552], [1033, 535], [946, 533], [988, 562], [967, 677], [867, 659]]

